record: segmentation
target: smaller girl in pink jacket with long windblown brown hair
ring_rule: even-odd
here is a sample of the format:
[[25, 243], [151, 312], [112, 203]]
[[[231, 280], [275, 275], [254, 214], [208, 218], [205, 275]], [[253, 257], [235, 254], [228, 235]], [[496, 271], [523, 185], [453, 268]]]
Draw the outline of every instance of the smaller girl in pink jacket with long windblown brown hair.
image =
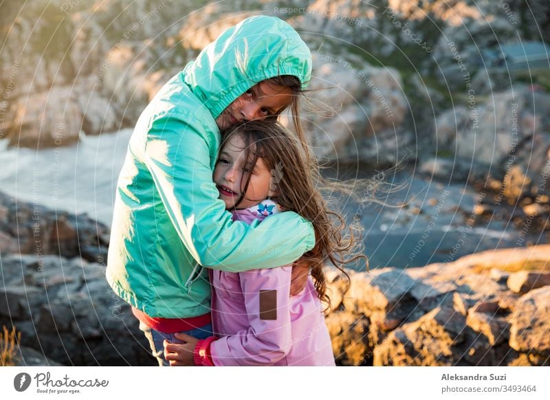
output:
[[[335, 365], [321, 304], [330, 304], [322, 267], [329, 261], [345, 274], [344, 264], [366, 258], [353, 256], [353, 235], [342, 237], [345, 223], [316, 188], [322, 178], [318, 166], [308, 165], [307, 151], [275, 121], [246, 122], [224, 134], [214, 183], [233, 220], [257, 225], [283, 210], [297, 212], [314, 225], [316, 245], [306, 254], [314, 267], [305, 289], [292, 297], [291, 265], [210, 269], [215, 336], [176, 334], [182, 344], [165, 341], [170, 366]], [[284, 251], [265, 243], [257, 254]]]

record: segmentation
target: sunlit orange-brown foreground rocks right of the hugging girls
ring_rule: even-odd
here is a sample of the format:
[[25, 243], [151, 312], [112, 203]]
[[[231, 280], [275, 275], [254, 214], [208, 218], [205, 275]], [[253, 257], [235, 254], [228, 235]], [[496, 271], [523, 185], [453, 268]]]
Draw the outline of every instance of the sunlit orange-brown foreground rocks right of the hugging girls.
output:
[[333, 274], [327, 324], [341, 365], [550, 365], [550, 245], [425, 267]]

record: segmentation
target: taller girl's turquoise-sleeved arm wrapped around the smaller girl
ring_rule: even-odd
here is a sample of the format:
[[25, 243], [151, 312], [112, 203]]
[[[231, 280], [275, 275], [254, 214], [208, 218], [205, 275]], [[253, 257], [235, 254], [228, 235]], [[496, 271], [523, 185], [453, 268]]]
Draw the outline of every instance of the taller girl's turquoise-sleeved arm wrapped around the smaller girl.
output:
[[[217, 133], [173, 115], [157, 118], [148, 131], [144, 162], [181, 241], [201, 265], [248, 271], [293, 263], [314, 247], [310, 221], [283, 212], [247, 225], [233, 222], [212, 181]], [[261, 250], [261, 252], [259, 251]], [[251, 256], [253, 255], [253, 256]]]

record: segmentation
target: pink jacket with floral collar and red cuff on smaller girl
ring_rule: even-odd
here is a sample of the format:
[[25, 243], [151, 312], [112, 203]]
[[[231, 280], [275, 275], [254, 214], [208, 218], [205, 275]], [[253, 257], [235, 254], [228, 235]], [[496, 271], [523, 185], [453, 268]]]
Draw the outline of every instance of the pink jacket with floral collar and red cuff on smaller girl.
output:
[[[278, 212], [270, 200], [237, 210], [252, 223]], [[271, 248], [262, 252], [284, 252]], [[254, 257], [254, 254], [250, 254]], [[195, 348], [195, 364], [215, 366], [334, 366], [331, 339], [311, 276], [289, 296], [292, 266], [234, 273], [209, 269], [214, 337]]]

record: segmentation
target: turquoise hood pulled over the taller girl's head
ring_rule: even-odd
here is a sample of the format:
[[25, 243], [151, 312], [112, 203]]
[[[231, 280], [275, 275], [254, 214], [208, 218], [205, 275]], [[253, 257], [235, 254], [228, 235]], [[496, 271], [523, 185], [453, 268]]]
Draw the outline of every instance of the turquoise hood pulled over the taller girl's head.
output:
[[225, 30], [184, 68], [184, 81], [213, 118], [262, 80], [294, 75], [305, 88], [311, 52], [292, 26], [274, 16], [252, 16]]

